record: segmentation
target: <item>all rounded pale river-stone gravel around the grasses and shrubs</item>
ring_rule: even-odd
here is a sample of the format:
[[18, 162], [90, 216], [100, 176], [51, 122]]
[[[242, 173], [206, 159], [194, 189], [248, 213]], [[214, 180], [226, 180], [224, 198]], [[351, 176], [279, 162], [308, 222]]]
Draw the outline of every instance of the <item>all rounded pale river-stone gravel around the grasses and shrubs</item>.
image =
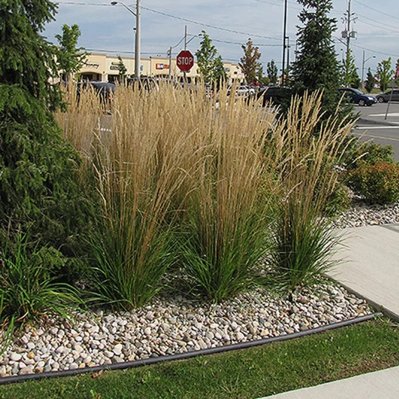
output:
[[[399, 203], [354, 200], [337, 228], [399, 223]], [[289, 300], [290, 299], [290, 300]], [[367, 303], [329, 281], [291, 298], [262, 291], [219, 305], [178, 295], [125, 313], [75, 313], [30, 327], [0, 356], [0, 377], [73, 370], [171, 355], [304, 331], [372, 313]], [[0, 333], [1, 339], [1, 333]]]

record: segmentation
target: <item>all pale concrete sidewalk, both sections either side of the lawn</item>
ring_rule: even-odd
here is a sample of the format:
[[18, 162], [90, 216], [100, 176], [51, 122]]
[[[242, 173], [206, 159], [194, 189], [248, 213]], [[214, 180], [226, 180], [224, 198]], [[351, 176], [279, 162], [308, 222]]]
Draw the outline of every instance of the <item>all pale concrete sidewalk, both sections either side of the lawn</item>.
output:
[[[399, 223], [345, 229], [344, 243], [328, 275], [399, 321]], [[399, 399], [399, 367], [267, 398]]]

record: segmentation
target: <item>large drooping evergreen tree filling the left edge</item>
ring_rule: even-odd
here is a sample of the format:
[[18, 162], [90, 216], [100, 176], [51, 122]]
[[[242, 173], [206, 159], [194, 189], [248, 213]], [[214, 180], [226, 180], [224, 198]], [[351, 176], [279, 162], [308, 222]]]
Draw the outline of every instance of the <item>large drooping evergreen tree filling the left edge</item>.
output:
[[78, 231], [75, 167], [51, 109], [61, 105], [56, 48], [40, 35], [56, 6], [47, 0], [0, 2], [0, 243], [10, 230], [55, 247]]

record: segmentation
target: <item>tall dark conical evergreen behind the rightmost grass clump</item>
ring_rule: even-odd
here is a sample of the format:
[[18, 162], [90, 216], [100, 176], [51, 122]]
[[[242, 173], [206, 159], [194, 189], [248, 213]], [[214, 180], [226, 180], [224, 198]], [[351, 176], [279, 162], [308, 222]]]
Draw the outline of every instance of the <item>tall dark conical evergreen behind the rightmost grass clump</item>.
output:
[[329, 17], [331, 0], [298, 0], [303, 5], [298, 27], [298, 53], [292, 67], [293, 89], [324, 90], [322, 108], [329, 113], [336, 109], [340, 74], [336, 58], [333, 32], [336, 19]]

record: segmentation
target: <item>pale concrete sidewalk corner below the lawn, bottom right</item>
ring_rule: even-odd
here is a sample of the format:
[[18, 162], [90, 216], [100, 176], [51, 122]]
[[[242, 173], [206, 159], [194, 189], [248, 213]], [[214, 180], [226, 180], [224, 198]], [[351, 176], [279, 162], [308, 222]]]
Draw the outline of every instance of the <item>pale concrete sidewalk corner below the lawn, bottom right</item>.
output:
[[273, 399], [398, 399], [399, 367], [362, 374], [283, 394]]

